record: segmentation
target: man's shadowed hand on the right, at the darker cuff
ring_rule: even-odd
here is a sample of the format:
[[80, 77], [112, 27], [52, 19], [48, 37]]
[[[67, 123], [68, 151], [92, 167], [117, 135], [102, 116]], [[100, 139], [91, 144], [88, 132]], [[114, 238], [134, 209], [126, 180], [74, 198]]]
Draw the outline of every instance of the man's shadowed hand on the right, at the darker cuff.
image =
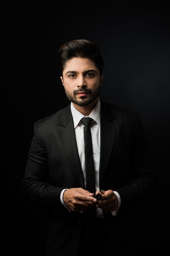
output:
[[98, 208], [107, 212], [116, 210], [116, 207], [118, 206], [117, 195], [113, 192], [113, 190], [107, 190], [103, 192], [105, 195], [103, 195], [102, 198], [98, 200]]

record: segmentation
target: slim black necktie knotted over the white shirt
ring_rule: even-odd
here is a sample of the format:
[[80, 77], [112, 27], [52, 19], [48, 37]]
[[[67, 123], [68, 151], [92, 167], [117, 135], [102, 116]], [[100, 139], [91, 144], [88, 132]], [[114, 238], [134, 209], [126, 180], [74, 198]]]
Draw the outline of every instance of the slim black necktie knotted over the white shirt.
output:
[[94, 178], [94, 161], [92, 149], [92, 135], [90, 124], [93, 119], [90, 117], [83, 117], [81, 122], [84, 124], [84, 140], [85, 140], [85, 172], [86, 172], [86, 189], [90, 193], [95, 194], [95, 178]]

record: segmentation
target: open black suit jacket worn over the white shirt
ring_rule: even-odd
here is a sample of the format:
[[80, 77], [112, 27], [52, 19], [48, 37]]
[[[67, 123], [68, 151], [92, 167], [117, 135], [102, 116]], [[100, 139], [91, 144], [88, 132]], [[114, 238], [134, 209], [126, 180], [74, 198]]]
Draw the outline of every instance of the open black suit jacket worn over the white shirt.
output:
[[[100, 189], [118, 191], [121, 197], [117, 216], [104, 213], [108, 230], [113, 234], [116, 227], [120, 230], [120, 216], [153, 193], [156, 177], [138, 113], [100, 102]], [[60, 201], [62, 189], [73, 187], [85, 189], [69, 104], [35, 122], [22, 184], [26, 199], [48, 210], [48, 228], [56, 236], [56, 243], [52, 239], [48, 241], [48, 255], [53, 255], [55, 250], [57, 255], [63, 255], [61, 247], [65, 249], [64, 255], [76, 253], [75, 241], [80, 236], [82, 215], [69, 213]], [[63, 246], [63, 240], [68, 246]]]

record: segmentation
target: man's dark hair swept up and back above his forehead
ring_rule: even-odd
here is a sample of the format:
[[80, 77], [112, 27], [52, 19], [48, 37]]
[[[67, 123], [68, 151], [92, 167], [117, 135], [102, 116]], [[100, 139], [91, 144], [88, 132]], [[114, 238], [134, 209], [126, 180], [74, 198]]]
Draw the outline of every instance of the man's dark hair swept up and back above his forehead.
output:
[[63, 44], [58, 51], [58, 64], [62, 75], [66, 61], [74, 57], [89, 58], [98, 68], [100, 75], [102, 74], [104, 61], [100, 55], [100, 48], [95, 43], [77, 39]]

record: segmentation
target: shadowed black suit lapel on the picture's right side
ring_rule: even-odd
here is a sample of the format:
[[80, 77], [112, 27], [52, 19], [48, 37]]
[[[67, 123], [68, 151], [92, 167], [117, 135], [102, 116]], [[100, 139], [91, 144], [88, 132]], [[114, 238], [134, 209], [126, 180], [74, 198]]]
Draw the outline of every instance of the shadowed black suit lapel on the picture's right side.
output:
[[114, 115], [109, 111], [106, 103], [101, 102], [101, 141], [100, 141], [100, 173], [99, 173], [99, 186], [101, 184], [105, 170], [113, 150], [113, 144], [116, 136], [116, 126], [114, 125]]

